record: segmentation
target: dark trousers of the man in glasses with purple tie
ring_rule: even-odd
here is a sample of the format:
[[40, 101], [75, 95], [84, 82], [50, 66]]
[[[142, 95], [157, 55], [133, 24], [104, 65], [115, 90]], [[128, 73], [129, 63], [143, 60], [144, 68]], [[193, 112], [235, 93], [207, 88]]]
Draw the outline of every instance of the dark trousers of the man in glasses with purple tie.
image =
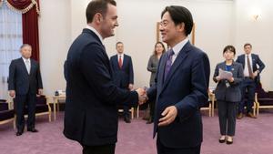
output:
[[157, 154], [200, 154], [201, 145], [187, 149], [171, 149], [165, 147], [157, 138]]

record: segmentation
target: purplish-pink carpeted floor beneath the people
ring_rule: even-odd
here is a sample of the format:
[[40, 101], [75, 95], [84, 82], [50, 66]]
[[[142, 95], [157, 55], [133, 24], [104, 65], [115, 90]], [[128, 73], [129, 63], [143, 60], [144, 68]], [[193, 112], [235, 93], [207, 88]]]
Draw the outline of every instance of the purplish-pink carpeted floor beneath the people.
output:
[[[11, 123], [0, 126], [0, 154], [79, 154], [81, 146], [66, 139], [63, 134], [63, 113], [56, 122], [46, 117], [36, 119], [38, 133], [25, 132], [16, 137]], [[273, 152], [273, 111], [263, 111], [257, 119], [242, 118], [237, 121], [234, 144], [218, 143], [218, 118], [203, 116], [204, 141], [202, 154], [270, 154]], [[152, 125], [141, 118], [126, 124], [119, 120], [116, 154], [156, 154]]]

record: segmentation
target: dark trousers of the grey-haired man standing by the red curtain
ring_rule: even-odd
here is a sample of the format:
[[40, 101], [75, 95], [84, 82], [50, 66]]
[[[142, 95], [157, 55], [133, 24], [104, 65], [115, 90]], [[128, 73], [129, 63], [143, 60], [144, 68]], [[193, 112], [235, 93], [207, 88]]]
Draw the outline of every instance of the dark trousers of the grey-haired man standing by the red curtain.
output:
[[15, 96], [15, 114], [16, 128], [18, 131], [23, 131], [25, 127], [24, 110], [27, 107], [27, 128], [35, 128], [35, 107], [36, 95], [27, 93], [26, 95]]

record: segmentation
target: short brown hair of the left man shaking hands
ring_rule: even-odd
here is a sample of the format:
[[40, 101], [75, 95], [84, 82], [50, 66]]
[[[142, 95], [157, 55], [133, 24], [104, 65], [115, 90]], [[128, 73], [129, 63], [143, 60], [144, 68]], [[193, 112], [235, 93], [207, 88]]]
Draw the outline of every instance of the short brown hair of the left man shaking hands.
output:
[[100, 13], [105, 17], [107, 9], [108, 9], [108, 4], [110, 5], [116, 5], [115, 0], [93, 0], [91, 1], [87, 7], [86, 7], [86, 22], [87, 23], [92, 23], [94, 15], [96, 13]]

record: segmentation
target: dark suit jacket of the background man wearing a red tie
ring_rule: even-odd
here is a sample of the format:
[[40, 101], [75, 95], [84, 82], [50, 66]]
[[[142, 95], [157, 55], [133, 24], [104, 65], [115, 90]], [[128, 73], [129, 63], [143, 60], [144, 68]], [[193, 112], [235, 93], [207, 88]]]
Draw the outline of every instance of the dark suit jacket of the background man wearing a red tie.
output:
[[134, 84], [134, 70], [131, 56], [124, 54], [122, 67], [118, 67], [117, 55], [111, 56], [110, 64], [113, 70], [113, 80], [118, 87], [128, 87]]

